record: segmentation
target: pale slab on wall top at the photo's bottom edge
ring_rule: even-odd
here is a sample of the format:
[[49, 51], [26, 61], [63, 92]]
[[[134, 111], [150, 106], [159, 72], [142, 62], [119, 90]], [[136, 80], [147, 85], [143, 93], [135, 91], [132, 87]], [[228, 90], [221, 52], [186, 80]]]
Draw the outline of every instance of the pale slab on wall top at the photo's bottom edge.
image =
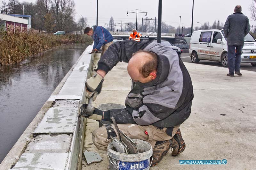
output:
[[68, 153], [23, 153], [12, 169], [65, 170]]

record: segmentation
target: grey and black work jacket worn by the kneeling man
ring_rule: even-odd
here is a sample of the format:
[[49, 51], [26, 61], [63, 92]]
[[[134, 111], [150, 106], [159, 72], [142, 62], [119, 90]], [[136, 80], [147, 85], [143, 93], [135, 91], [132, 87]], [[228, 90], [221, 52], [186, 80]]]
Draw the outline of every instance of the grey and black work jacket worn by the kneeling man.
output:
[[138, 50], [157, 54], [156, 79], [148, 83], [132, 82], [125, 109], [110, 110], [117, 123], [136, 123], [173, 127], [190, 115], [193, 86], [188, 70], [169, 46], [147, 41], [117, 41], [101, 56], [98, 69], [108, 73], [118, 62], [128, 63]]

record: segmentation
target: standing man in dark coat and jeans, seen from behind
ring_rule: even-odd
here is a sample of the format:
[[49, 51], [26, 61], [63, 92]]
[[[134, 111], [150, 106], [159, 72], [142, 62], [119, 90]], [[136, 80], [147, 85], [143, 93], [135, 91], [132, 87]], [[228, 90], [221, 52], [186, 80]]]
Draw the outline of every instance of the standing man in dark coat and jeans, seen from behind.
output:
[[240, 73], [240, 63], [242, 48], [244, 47], [244, 37], [250, 31], [249, 19], [242, 13], [242, 7], [236, 5], [235, 12], [228, 16], [225, 25], [224, 33], [228, 38], [228, 70], [227, 76], [234, 77], [234, 72], [238, 76]]

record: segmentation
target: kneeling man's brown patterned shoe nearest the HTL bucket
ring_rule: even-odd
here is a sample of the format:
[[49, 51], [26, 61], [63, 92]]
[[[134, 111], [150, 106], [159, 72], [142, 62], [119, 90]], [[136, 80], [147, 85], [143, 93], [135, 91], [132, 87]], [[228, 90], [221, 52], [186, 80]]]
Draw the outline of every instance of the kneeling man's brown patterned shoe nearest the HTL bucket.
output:
[[164, 155], [166, 155], [166, 153], [170, 150], [171, 146], [172, 140], [166, 140], [162, 144], [155, 145], [153, 149], [153, 161], [151, 166], [157, 165], [162, 160]]

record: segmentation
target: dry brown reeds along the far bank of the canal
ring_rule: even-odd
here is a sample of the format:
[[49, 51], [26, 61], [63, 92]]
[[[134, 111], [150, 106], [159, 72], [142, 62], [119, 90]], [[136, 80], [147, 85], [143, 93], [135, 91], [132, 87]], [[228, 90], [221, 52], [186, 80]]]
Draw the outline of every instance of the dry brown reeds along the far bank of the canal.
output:
[[0, 33], [0, 65], [20, 63], [28, 56], [68, 43], [92, 43], [92, 38], [87, 35], [53, 35], [33, 31], [2, 32]]

